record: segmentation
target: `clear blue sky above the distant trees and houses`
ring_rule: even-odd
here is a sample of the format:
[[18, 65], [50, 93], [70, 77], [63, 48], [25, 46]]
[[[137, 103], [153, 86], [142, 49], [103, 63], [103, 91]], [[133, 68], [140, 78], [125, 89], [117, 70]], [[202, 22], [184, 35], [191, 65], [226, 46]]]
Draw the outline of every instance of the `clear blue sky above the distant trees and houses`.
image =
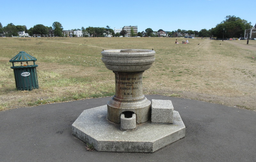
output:
[[[244, 4], [246, 3], [246, 4]], [[234, 15], [256, 23], [255, 0], [126, 0], [126, 1], [67, 1], [12, 0], [1, 3], [0, 22], [52, 26], [60, 22], [64, 30], [88, 26], [120, 29], [138, 26], [138, 32], [211, 29]]]

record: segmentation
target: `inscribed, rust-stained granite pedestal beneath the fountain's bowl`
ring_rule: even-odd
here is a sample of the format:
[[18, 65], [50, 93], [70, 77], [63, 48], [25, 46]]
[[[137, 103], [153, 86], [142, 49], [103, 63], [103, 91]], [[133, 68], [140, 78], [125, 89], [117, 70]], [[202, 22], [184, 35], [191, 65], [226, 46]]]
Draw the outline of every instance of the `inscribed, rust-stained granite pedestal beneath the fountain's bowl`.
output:
[[135, 113], [136, 123], [149, 120], [151, 102], [142, 93], [143, 72], [114, 72], [116, 94], [108, 101], [108, 120], [120, 123], [122, 112]]

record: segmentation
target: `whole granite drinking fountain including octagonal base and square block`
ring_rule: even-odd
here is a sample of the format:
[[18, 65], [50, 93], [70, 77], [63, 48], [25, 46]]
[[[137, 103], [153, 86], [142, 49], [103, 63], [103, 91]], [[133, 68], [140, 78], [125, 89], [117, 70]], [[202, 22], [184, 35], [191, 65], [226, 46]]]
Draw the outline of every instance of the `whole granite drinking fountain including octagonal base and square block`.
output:
[[123, 152], [154, 152], [185, 137], [185, 125], [172, 102], [150, 102], [143, 95], [143, 73], [155, 61], [153, 49], [101, 54], [115, 74], [115, 95], [107, 105], [84, 110], [72, 124], [72, 134], [98, 151]]

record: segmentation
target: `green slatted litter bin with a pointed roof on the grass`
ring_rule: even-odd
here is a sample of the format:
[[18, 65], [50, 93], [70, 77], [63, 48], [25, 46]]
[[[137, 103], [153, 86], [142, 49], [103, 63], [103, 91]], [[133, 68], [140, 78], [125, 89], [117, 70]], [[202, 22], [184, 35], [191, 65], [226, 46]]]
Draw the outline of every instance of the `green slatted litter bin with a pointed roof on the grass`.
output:
[[[12, 62], [12, 69], [17, 90], [33, 90], [38, 89], [38, 80], [35, 64], [37, 59], [28, 53], [21, 51], [14, 56], [9, 62]], [[28, 65], [29, 61], [33, 61], [33, 65]], [[20, 66], [14, 66], [14, 63], [20, 62]]]

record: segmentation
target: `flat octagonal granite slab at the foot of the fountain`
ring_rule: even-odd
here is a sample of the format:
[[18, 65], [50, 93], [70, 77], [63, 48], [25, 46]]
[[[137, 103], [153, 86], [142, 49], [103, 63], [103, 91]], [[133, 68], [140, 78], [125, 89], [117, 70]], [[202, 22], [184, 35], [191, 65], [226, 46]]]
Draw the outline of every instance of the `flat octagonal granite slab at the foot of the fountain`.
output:
[[173, 111], [173, 124], [145, 122], [123, 131], [107, 119], [107, 105], [84, 110], [72, 124], [72, 134], [98, 151], [154, 152], [185, 137], [185, 129], [179, 112]]

